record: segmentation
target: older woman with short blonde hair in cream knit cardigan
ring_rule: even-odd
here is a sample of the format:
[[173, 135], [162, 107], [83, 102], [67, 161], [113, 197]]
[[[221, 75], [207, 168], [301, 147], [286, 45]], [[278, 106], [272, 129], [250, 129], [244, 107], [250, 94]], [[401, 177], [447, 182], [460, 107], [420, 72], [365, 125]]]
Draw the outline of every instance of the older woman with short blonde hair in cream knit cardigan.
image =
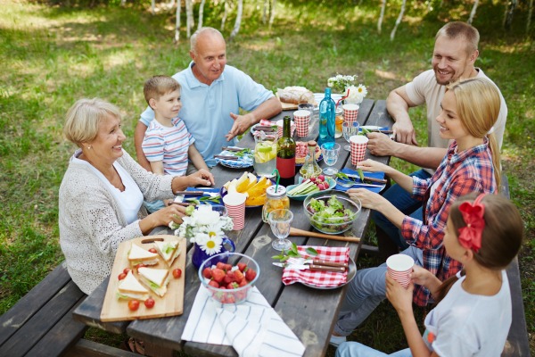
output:
[[185, 187], [211, 186], [214, 178], [207, 170], [184, 177], [144, 170], [123, 150], [119, 109], [98, 98], [72, 105], [63, 132], [78, 150], [60, 187], [60, 245], [70, 277], [90, 294], [110, 275], [121, 242], [184, 215], [177, 205], [147, 215], [144, 199], [171, 198]]

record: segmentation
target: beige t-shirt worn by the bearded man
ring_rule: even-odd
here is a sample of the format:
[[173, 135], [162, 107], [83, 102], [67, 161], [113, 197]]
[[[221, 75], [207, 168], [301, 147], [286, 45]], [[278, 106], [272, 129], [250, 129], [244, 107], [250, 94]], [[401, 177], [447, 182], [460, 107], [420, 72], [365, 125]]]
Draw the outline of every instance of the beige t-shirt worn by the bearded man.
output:
[[[481, 71], [481, 69], [476, 68], [477, 78], [489, 79]], [[490, 80], [492, 84], [492, 80]], [[494, 84], [496, 86], [496, 84]], [[504, 140], [504, 132], [506, 131], [506, 120], [507, 120], [507, 104], [503, 95], [499, 91], [498, 86], [496, 86], [499, 93], [500, 99], [500, 108], [498, 113], [498, 120], [494, 124], [494, 135], [496, 136], [496, 141], [498, 142], [498, 147], [501, 149], [501, 145]], [[412, 80], [412, 82], [407, 83], [405, 86], [407, 91], [407, 96], [410, 101], [416, 105], [427, 105], [427, 145], [429, 147], [444, 147], [449, 146], [449, 140], [443, 139], [440, 137], [440, 125], [437, 122], [436, 118], [440, 114], [440, 104], [444, 93], [446, 93], [446, 86], [442, 86], [437, 83], [435, 78], [434, 71], [424, 71], [419, 74]], [[424, 169], [431, 174], [434, 173], [434, 170]]]

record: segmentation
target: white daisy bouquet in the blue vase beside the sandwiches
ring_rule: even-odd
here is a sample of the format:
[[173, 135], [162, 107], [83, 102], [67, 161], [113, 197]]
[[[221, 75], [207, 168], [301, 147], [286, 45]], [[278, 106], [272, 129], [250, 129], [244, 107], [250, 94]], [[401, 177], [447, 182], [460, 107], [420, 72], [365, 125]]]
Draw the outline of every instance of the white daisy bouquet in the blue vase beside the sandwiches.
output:
[[232, 219], [212, 211], [210, 204], [199, 204], [196, 210], [189, 206], [185, 212], [187, 215], [175, 235], [188, 238], [209, 255], [220, 253], [225, 237], [223, 231], [233, 228]]

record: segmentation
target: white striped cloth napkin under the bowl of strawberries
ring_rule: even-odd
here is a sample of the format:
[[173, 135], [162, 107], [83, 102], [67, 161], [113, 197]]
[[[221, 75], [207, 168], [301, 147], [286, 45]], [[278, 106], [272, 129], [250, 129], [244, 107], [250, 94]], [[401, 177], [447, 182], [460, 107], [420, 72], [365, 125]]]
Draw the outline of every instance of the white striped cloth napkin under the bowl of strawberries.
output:
[[246, 302], [224, 305], [200, 286], [182, 339], [213, 345], [232, 345], [243, 357], [302, 356], [305, 346], [255, 287]]

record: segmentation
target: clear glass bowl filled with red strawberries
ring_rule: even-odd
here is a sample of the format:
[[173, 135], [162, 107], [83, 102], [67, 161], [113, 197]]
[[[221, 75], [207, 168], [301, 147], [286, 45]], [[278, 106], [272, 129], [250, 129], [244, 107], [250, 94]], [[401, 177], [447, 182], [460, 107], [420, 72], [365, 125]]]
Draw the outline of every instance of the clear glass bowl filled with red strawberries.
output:
[[260, 275], [259, 264], [242, 253], [218, 253], [202, 262], [199, 279], [218, 303], [243, 303]]

